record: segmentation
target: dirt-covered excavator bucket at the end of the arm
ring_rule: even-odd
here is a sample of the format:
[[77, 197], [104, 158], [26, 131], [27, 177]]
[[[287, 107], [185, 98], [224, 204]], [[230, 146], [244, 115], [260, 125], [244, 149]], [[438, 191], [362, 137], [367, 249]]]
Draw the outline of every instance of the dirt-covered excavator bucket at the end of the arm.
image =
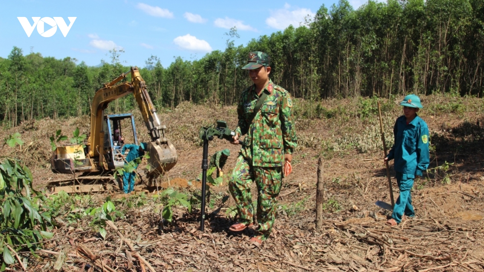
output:
[[150, 178], [164, 175], [177, 164], [178, 155], [175, 146], [166, 138], [149, 142], [146, 151], [150, 155], [148, 164], [151, 166], [151, 170], [147, 174]]

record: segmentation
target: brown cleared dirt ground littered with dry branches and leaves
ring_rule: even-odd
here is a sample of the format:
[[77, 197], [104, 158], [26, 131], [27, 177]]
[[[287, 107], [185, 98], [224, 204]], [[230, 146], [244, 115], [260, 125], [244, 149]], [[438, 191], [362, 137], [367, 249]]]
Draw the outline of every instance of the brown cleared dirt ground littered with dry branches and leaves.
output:
[[[429, 168], [448, 163], [449, 169], [437, 168], [437, 173], [429, 171], [415, 181], [412, 202], [416, 216], [396, 227], [385, 225], [391, 212], [375, 205], [378, 200], [390, 203], [386, 168], [381, 160], [383, 151], [370, 148], [361, 153], [354, 146], [344, 147], [341, 143], [341, 139], [357, 134], [370, 139], [361, 132], [374, 127], [376, 119], [354, 121], [355, 118], [345, 118], [345, 114], [330, 119], [296, 119], [301, 142], [294, 154], [293, 173], [283, 181], [271, 237], [260, 247], [248, 242], [253, 230], [242, 233], [228, 230], [237, 220], [231, 212], [234, 202], [231, 197], [225, 203], [221, 199], [229, 196], [227, 182], [238, 147], [224, 140], [214, 140], [210, 146], [210, 153], [228, 148], [232, 155], [224, 169], [223, 183], [211, 188], [215, 201], [206, 211], [205, 231], [199, 231], [197, 208], [189, 213], [177, 207], [173, 222], [165, 222], [163, 226], [156, 208], [159, 204], [152, 196], [169, 187], [187, 194], [198, 191], [199, 182], [195, 178], [201, 171], [202, 149], [196, 137], [200, 125], [212, 123], [217, 116], [225, 116], [230, 127], [236, 125], [234, 107], [190, 105], [162, 114], [162, 122], [168, 124], [168, 136], [177, 147], [177, 165], [160, 178], [159, 188], [136, 185], [136, 191], [129, 198], [143, 200], [144, 204], [123, 210], [125, 218], [117, 219], [115, 225], [155, 271], [483, 271], [484, 128], [479, 122], [483, 122], [484, 115], [481, 101], [475, 99], [472, 103], [479, 107], [467, 107], [457, 113], [437, 110], [421, 113], [435, 147]], [[338, 102], [328, 104], [329, 108], [336, 108]], [[212, 112], [207, 113], [208, 109]], [[386, 118], [391, 123], [398, 115], [399, 109], [395, 107]], [[142, 122], [137, 124], [141, 126]], [[35, 186], [40, 189], [49, 181], [66, 178], [45, 167], [49, 154], [46, 125], [52, 130], [62, 127], [68, 132], [76, 126], [87, 131], [89, 123], [76, 118], [42, 120], [34, 122], [32, 129], [19, 127], [0, 132], [3, 137], [16, 130], [23, 131], [26, 144], [21, 150], [8, 147], [3, 150], [25, 159], [33, 169]], [[143, 135], [143, 128], [138, 129], [138, 135]], [[379, 135], [375, 137], [378, 139]], [[28, 148], [34, 155], [26, 155]], [[321, 229], [315, 226], [318, 158], [323, 159], [325, 185]], [[398, 187], [394, 178], [392, 181], [396, 200]], [[255, 189], [253, 186], [254, 200]], [[116, 190], [92, 197], [102, 203], [106, 196], [126, 198]], [[82, 203], [76, 203], [76, 208], [86, 209]], [[119, 209], [124, 209], [121, 206]], [[74, 210], [70, 204], [64, 209], [66, 215]], [[131, 250], [112, 228], [106, 227], [107, 236], [102, 239], [89, 225], [88, 217], [63, 223], [53, 230], [54, 238], [44, 244], [50, 253], [41, 252], [40, 259], [21, 254], [29, 258], [28, 271], [54, 271], [59, 252], [71, 254], [62, 266], [63, 271], [92, 271], [90, 267], [94, 271], [149, 271], [134, 253], [129, 254]], [[91, 250], [92, 258], [83, 246]], [[82, 270], [84, 264], [87, 265]], [[18, 270], [19, 266], [11, 269]]]

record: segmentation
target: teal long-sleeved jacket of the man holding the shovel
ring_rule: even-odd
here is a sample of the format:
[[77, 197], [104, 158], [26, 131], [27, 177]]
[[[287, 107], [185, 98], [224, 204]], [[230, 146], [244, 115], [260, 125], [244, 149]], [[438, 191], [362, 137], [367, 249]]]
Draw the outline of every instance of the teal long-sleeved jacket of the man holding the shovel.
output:
[[409, 124], [400, 116], [393, 127], [395, 144], [388, 153], [396, 172], [422, 176], [430, 163], [428, 126], [419, 116]]

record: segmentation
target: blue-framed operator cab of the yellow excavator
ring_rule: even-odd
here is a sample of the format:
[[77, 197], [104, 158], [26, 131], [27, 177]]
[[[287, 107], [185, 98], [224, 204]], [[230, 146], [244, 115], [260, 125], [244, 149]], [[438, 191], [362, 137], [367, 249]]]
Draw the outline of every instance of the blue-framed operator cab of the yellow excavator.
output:
[[[126, 120], [123, 122], [123, 120]], [[122, 127], [122, 124], [130, 124]], [[103, 122], [104, 133], [104, 161], [108, 169], [115, 169], [124, 165], [121, 155], [124, 142], [138, 144], [136, 136], [135, 117], [131, 113], [105, 115]], [[130, 134], [132, 133], [132, 135]], [[133, 138], [131, 138], [131, 136]]]

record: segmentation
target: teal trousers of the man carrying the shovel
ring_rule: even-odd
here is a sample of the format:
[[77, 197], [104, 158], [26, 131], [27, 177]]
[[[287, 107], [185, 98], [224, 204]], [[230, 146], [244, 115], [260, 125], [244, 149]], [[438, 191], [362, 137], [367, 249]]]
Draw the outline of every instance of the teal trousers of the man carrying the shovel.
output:
[[408, 217], [415, 216], [415, 211], [413, 211], [412, 206], [412, 196], [410, 194], [415, 175], [396, 172], [395, 177], [398, 188], [400, 189], [400, 196], [398, 196], [395, 206], [393, 207], [392, 218], [399, 224], [402, 222], [402, 216], [404, 214]]

